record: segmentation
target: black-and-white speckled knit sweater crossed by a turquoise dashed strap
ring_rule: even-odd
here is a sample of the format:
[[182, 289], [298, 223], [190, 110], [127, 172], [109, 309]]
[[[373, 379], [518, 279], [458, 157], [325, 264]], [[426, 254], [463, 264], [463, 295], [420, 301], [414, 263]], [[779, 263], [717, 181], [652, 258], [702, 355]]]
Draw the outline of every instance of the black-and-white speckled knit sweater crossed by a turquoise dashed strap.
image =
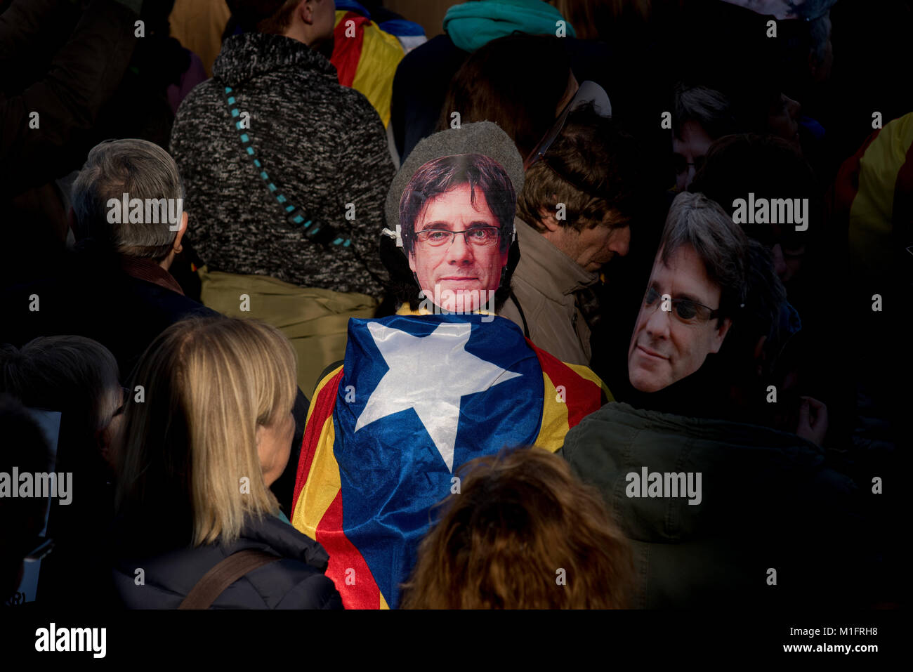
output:
[[[188, 235], [208, 268], [380, 296], [378, 236], [394, 165], [368, 100], [338, 83], [329, 60], [289, 37], [230, 37], [213, 74], [184, 99], [171, 137]], [[239, 130], [245, 112], [250, 128]], [[286, 224], [288, 205], [315, 225], [336, 227], [352, 244], [307, 239], [308, 229]]]

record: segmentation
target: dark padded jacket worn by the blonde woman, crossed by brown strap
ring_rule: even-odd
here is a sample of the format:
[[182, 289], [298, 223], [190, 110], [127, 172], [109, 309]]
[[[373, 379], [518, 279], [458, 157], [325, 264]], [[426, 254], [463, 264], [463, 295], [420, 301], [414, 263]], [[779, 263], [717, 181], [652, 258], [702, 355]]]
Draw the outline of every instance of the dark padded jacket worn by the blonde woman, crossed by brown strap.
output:
[[[149, 529], [140, 524], [126, 527], [119, 521], [114, 549], [114, 586], [121, 604], [129, 609], [176, 609], [194, 585], [235, 551], [257, 549], [282, 558], [257, 568], [232, 583], [216, 598], [213, 609], [341, 609], [342, 601], [333, 582], [324, 576], [329, 556], [289, 523], [267, 515], [251, 520], [234, 543], [206, 544], [197, 548], [144, 554], [148, 539], [133, 535]], [[137, 570], [142, 569], [142, 574]], [[140, 577], [142, 576], [142, 584]]]

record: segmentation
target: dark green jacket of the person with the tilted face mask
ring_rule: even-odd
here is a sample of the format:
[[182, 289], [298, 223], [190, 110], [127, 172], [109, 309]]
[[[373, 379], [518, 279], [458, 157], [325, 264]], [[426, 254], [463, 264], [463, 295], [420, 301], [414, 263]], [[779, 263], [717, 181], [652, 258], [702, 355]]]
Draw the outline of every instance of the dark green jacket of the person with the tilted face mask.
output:
[[[632, 606], [848, 606], [865, 589], [855, 484], [799, 436], [611, 403], [572, 428], [559, 454], [632, 542]], [[662, 487], [638, 482], [644, 467]], [[688, 472], [695, 488], [672, 496], [682, 481], [666, 473]]]

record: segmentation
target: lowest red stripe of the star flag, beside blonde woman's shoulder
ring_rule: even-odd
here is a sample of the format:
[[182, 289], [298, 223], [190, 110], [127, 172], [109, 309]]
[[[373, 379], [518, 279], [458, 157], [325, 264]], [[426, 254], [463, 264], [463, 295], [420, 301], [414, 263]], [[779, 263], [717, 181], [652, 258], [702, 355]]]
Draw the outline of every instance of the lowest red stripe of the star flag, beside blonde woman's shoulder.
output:
[[[336, 584], [346, 609], [380, 609], [381, 590], [362, 553], [342, 531], [342, 490], [320, 519], [317, 541], [330, 553], [327, 576]], [[348, 580], [348, 582], [347, 582]]]

